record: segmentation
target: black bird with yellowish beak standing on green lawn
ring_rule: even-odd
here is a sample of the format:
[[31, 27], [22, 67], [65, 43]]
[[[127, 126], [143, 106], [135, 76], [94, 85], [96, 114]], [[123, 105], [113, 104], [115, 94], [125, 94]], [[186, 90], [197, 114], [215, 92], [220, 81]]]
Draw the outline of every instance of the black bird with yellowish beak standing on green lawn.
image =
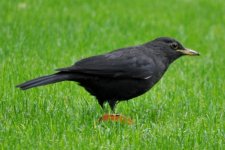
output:
[[169, 65], [183, 55], [199, 53], [184, 48], [175, 39], [160, 37], [142, 45], [82, 59], [70, 67], [57, 69], [55, 74], [17, 87], [27, 90], [61, 81], [75, 81], [94, 95], [101, 107], [108, 102], [114, 110], [117, 102], [137, 97], [151, 89]]

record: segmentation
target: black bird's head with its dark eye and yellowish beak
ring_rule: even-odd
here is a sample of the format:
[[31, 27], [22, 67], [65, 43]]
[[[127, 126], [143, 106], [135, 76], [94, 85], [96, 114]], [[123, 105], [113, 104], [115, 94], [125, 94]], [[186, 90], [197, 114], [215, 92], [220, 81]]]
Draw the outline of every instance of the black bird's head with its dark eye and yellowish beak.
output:
[[148, 45], [151, 46], [155, 52], [168, 57], [169, 59], [171, 59], [171, 61], [174, 61], [175, 59], [184, 55], [200, 55], [198, 52], [185, 48], [180, 42], [169, 37], [157, 38], [148, 43]]

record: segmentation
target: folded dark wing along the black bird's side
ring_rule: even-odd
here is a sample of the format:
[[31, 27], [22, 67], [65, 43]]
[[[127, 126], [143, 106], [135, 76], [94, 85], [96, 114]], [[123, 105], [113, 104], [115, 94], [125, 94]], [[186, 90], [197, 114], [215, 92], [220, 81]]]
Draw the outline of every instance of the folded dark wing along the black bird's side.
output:
[[148, 79], [153, 75], [154, 61], [136, 51], [115, 51], [82, 59], [61, 72], [78, 72], [109, 78]]

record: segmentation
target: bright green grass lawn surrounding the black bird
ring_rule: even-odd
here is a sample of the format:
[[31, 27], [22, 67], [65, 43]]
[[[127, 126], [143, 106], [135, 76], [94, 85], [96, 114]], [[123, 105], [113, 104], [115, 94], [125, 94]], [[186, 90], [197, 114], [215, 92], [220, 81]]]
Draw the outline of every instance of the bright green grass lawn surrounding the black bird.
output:
[[[0, 1], [1, 149], [224, 149], [225, 2]], [[15, 85], [81, 58], [159, 36], [183, 57], [146, 94], [117, 112], [134, 125], [98, 123], [103, 111], [74, 83]]]

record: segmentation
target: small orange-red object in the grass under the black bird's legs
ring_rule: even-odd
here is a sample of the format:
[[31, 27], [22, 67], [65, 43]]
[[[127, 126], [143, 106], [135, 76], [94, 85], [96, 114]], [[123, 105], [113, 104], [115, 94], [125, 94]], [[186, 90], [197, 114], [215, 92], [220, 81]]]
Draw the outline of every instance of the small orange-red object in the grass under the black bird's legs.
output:
[[126, 118], [120, 114], [105, 114], [99, 118], [99, 121], [112, 121], [112, 122], [120, 122], [125, 124], [133, 124], [133, 121], [130, 118]]

